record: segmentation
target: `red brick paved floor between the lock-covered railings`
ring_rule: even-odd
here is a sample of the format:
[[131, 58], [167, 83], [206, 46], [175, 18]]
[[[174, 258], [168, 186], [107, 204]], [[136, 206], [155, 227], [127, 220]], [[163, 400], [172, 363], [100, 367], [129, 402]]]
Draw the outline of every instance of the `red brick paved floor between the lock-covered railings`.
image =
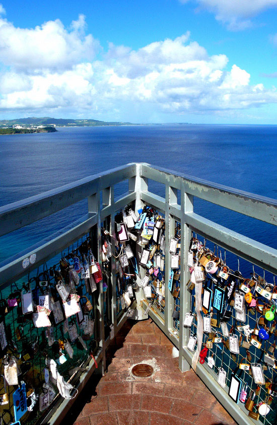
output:
[[[151, 319], [126, 322], [107, 352], [107, 374], [99, 382], [91, 379], [66, 424], [235, 425], [192, 370], [180, 372], [174, 351]], [[142, 361], [156, 372], [132, 378], [129, 368]]]

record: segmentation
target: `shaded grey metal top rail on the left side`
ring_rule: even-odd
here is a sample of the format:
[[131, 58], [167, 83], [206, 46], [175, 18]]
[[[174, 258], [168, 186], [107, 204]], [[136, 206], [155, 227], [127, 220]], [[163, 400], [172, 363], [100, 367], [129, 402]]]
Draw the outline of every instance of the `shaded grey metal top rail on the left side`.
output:
[[1, 206], [0, 236], [50, 216], [54, 212], [135, 175], [136, 164], [128, 164]]

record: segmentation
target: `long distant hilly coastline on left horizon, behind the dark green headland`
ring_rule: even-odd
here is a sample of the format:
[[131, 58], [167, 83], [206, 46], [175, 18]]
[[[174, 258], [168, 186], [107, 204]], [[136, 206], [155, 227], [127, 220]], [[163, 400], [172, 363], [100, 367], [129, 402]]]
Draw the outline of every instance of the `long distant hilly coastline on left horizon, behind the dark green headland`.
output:
[[98, 121], [97, 119], [67, 119], [67, 118], [51, 118], [51, 117], [29, 117], [17, 119], [3, 119], [0, 120], [0, 126], [8, 125], [55, 125], [57, 127], [64, 126], [79, 126], [79, 127], [93, 127], [96, 125], [131, 125], [130, 122], [107, 122]]

